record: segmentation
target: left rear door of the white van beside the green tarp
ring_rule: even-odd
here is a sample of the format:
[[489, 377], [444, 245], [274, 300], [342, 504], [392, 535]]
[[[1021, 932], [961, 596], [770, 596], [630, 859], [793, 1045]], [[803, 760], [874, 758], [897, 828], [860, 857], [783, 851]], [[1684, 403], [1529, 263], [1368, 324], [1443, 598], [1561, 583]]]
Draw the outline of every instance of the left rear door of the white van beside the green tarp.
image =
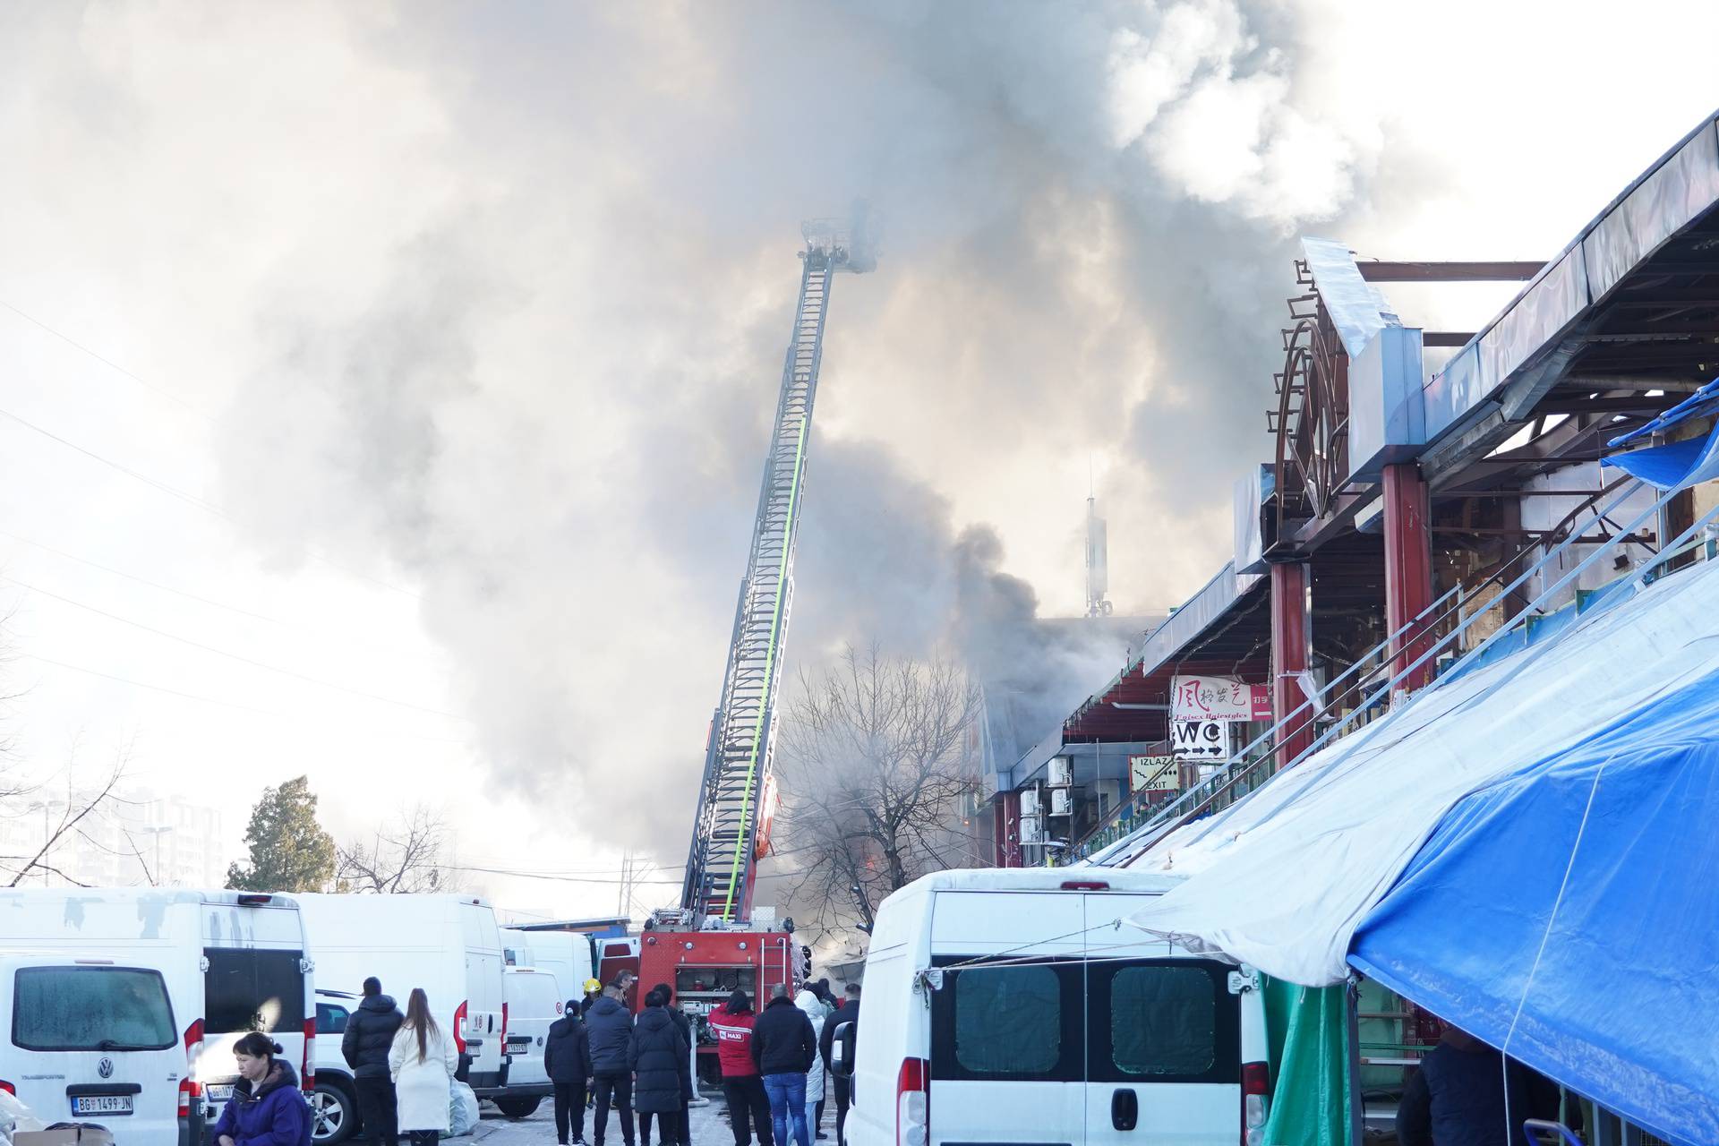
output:
[[[1085, 1122], [1081, 897], [939, 892], [932, 1144], [1076, 1146]], [[870, 1100], [866, 1100], [870, 1101]], [[889, 1096], [885, 1101], [894, 1101]]]

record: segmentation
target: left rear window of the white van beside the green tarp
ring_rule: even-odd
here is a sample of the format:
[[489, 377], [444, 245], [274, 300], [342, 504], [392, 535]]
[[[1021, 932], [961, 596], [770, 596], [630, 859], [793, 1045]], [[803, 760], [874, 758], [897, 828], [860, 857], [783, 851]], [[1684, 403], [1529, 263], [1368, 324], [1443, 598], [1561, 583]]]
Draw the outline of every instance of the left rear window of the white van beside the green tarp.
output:
[[970, 959], [932, 993], [932, 1077], [1078, 1082], [1085, 1069], [1080, 960], [987, 966]]

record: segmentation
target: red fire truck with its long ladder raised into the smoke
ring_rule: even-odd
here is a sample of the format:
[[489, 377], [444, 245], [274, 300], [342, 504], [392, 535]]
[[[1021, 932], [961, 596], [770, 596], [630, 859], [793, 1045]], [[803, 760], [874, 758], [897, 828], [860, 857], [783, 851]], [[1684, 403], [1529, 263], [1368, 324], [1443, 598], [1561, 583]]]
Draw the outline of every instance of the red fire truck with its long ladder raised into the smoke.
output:
[[657, 983], [674, 986], [676, 1005], [698, 1033], [700, 1077], [707, 1081], [720, 1077], [705, 1021], [712, 1009], [739, 988], [762, 1010], [774, 986], [794, 990], [811, 969], [811, 952], [794, 940], [792, 919], [777, 919], [774, 907], [755, 905], [753, 885], [758, 861], [770, 852], [777, 809], [770, 771], [777, 686], [794, 596], [794, 534], [804, 498], [823, 321], [835, 277], [873, 270], [877, 259], [861, 213], [844, 222], [804, 223], [801, 234], [799, 306], [782, 366], [722, 694], [705, 744], [681, 905], [652, 914], [636, 952], [643, 990], [633, 991], [633, 1005], [639, 1007], [645, 990]]

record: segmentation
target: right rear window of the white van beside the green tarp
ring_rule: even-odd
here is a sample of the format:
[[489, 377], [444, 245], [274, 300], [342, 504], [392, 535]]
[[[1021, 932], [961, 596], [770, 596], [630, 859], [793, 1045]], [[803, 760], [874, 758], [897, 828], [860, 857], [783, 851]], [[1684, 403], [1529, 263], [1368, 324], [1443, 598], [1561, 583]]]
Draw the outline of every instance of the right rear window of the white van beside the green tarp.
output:
[[1205, 959], [1093, 962], [1088, 1079], [1236, 1082], [1241, 1007], [1227, 972]]

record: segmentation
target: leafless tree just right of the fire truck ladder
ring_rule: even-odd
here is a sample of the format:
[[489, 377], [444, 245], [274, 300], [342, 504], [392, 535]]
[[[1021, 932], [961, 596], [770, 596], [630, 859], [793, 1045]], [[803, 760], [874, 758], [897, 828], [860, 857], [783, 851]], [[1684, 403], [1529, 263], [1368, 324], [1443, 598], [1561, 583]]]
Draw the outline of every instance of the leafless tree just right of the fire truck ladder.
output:
[[971, 866], [961, 806], [976, 785], [970, 730], [978, 689], [956, 665], [849, 646], [782, 720], [782, 856], [791, 899], [825, 928], [870, 930], [890, 892], [928, 871]]

